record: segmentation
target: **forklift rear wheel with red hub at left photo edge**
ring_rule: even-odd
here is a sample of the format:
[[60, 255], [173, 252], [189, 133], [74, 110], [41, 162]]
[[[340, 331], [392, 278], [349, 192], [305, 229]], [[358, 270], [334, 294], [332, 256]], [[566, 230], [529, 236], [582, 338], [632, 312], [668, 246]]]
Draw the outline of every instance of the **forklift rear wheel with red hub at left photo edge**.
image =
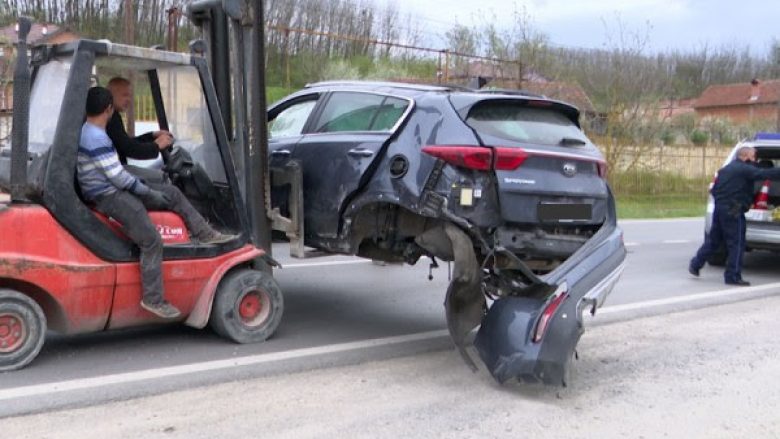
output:
[[45, 339], [41, 307], [22, 293], [0, 289], [0, 372], [30, 364]]

